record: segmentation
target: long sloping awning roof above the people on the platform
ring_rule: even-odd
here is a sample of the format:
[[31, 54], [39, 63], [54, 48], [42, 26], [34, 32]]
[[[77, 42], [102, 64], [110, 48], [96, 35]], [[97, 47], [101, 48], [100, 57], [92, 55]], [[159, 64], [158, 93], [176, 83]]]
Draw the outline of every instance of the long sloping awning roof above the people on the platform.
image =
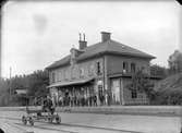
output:
[[90, 82], [93, 80], [94, 78], [84, 78], [84, 80], [77, 80], [77, 81], [57, 82], [57, 83], [49, 85], [48, 87], [50, 88], [50, 87], [58, 87], [58, 86], [80, 85], [80, 84], [85, 84], [87, 82]]

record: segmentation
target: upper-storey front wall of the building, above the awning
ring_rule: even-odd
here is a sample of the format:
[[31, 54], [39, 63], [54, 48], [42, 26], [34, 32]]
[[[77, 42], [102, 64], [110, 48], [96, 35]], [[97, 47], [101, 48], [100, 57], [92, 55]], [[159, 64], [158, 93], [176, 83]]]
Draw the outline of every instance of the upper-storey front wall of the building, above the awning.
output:
[[[97, 75], [97, 62], [100, 62], [101, 74]], [[74, 63], [72, 65], [66, 65], [62, 68], [54, 69], [49, 72], [50, 84], [52, 84], [52, 73], [56, 74], [54, 82], [66, 82], [66, 81], [76, 81], [81, 78], [89, 77], [102, 77], [104, 75], [104, 59], [90, 59], [84, 62]]]

